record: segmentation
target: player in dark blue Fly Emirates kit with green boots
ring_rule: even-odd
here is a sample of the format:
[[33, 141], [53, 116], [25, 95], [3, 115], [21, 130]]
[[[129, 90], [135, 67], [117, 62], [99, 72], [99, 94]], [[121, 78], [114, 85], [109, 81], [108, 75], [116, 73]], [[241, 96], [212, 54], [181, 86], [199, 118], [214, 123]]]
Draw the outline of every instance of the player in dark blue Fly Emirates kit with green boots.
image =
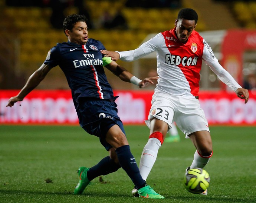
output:
[[80, 181], [74, 193], [82, 194], [95, 177], [115, 172], [122, 167], [138, 188], [141, 197], [163, 199], [140, 175], [123, 124], [117, 115], [116, 97], [106, 79], [103, 66], [121, 80], [137, 84], [141, 88], [157, 78], [145, 78], [142, 81], [115, 61], [111, 61], [111, 58], [104, 57], [100, 52], [105, 50], [103, 44], [88, 38], [85, 16], [69, 15], [63, 22], [63, 30], [68, 42], [58, 43], [50, 49], [42, 66], [29, 77], [17, 96], [9, 99], [6, 106], [12, 107], [14, 103], [22, 101], [53, 67], [59, 65], [72, 91], [80, 126], [89, 134], [99, 137], [101, 144], [109, 151], [109, 156], [95, 166], [78, 169]]

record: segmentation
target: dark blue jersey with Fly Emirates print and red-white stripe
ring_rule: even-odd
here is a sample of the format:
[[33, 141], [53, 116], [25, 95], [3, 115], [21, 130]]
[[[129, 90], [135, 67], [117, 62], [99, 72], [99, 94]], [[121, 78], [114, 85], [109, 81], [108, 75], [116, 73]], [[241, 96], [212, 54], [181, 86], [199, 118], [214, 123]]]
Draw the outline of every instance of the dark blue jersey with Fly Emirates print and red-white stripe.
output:
[[113, 99], [113, 90], [103, 68], [103, 44], [88, 39], [85, 45], [71, 42], [58, 43], [49, 52], [45, 64], [50, 68], [58, 66], [64, 72], [75, 103], [79, 97]]

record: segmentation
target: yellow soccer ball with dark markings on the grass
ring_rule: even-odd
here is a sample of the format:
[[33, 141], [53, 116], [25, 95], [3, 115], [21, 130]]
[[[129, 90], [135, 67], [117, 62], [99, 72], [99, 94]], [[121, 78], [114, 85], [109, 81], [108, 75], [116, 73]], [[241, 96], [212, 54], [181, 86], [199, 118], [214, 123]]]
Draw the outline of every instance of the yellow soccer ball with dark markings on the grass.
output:
[[199, 194], [209, 187], [210, 176], [204, 169], [194, 168], [187, 171], [184, 177], [184, 186], [188, 192]]

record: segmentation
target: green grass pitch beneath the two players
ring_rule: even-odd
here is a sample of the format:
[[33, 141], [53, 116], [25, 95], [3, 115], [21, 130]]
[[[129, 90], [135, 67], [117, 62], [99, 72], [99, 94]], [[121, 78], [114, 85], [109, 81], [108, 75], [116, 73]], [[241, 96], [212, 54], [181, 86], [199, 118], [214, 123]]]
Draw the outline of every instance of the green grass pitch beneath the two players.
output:
[[[125, 126], [137, 163], [149, 130]], [[0, 202], [256, 202], [256, 127], [213, 126], [213, 157], [205, 167], [211, 182], [208, 195], [183, 186], [195, 148], [164, 143], [147, 183], [165, 196], [150, 200], [131, 196], [133, 184], [122, 169], [92, 181], [82, 195], [73, 195], [79, 166], [91, 167], [108, 152], [95, 136], [79, 126], [0, 126]], [[49, 182], [49, 183], [47, 183]]]

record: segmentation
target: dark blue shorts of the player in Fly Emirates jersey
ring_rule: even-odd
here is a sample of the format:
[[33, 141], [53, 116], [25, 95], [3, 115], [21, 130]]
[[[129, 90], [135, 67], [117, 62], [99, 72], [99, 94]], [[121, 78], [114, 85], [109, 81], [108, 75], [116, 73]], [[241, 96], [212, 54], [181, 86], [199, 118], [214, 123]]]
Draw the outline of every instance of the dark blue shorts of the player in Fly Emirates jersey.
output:
[[112, 126], [118, 125], [125, 134], [116, 106], [110, 100], [80, 98], [76, 107], [80, 126], [89, 134], [99, 137], [106, 150], [112, 147], [105, 140], [106, 133]]

